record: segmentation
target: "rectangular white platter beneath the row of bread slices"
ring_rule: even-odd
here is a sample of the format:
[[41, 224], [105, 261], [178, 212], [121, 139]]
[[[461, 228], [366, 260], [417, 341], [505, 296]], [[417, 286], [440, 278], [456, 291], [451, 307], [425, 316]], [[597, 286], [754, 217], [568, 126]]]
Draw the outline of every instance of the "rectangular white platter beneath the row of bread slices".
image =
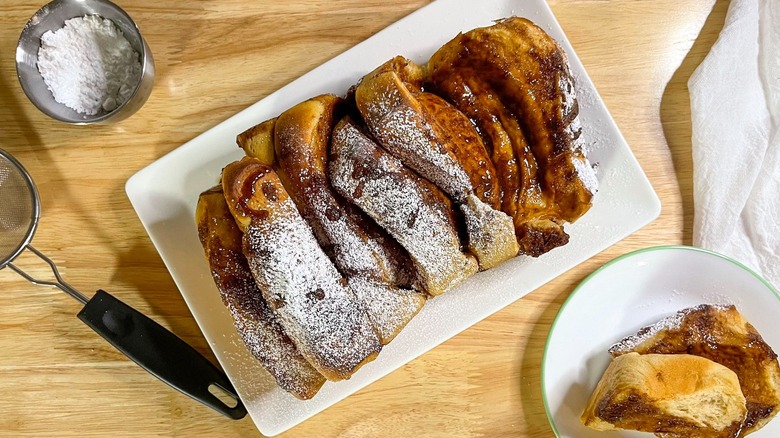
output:
[[[511, 15], [535, 21], [569, 55], [589, 156], [599, 166], [601, 187], [593, 208], [567, 227], [571, 234], [567, 246], [539, 259], [517, 258], [431, 300], [376, 361], [349, 381], [328, 383], [305, 402], [279, 390], [242, 346], [219, 300], [193, 218], [198, 194], [216, 184], [226, 164], [241, 157], [235, 144], [241, 131], [312, 96], [343, 94], [396, 54], [425, 62], [458, 32], [488, 26]], [[378, 380], [623, 239], [660, 213], [657, 196], [543, 0], [433, 2], [160, 158], [130, 178], [126, 190], [217, 359], [266, 435], [283, 432]]]

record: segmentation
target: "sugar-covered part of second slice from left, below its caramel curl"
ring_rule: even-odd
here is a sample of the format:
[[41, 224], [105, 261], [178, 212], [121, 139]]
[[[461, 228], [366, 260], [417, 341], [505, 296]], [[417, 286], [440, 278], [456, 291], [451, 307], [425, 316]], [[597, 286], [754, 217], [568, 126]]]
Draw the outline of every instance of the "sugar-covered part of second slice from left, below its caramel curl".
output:
[[347, 378], [379, 352], [379, 340], [292, 201], [273, 207], [245, 231], [252, 274], [309, 362], [331, 380]]

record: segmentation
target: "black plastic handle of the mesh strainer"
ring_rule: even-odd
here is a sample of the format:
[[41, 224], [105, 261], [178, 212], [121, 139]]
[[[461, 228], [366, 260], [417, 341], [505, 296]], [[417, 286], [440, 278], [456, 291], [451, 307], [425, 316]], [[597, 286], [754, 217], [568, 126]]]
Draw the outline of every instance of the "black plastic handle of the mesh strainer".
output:
[[[234, 420], [246, 415], [246, 408], [222, 371], [166, 328], [108, 292], [97, 291], [78, 317], [173, 388]], [[212, 394], [211, 385], [235, 398], [236, 405], [231, 407]]]

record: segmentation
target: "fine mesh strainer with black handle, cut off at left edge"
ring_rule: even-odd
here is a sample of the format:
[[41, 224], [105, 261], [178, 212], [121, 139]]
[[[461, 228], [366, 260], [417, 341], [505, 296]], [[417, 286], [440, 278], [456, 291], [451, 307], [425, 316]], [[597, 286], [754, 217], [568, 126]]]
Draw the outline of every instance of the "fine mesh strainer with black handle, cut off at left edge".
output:
[[[40, 213], [30, 174], [0, 149], [0, 270], [8, 266], [32, 283], [67, 292], [84, 304], [79, 319], [154, 376], [227, 417], [246, 415], [228, 378], [190, 345], [103, 290], [88, 299], [66, 283], [54, 262], [30, 245]], [[34, 278], [11, 263], [25, 249], [49, 264], [55, 281]], [[220, 393], [215, 388], [230, 396], [233, 406], [212, 393]]]

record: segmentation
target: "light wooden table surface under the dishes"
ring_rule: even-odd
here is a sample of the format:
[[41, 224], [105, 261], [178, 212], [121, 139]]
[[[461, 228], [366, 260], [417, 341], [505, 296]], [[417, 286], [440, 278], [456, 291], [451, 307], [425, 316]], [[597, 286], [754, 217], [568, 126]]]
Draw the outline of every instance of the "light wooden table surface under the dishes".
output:
[[[154, 53], [154, 91], [130, 119], [83, 127], [47, 119], [16, 80], [16, 42], [41, 2], [0, 2], [0, 148], [37, 182], [43, 218], [35, 246], [73, 286], [87, 295], [109, 290], [213, 359], [125, 196], [125, 181], [428, 1], [119, 3]], [[717, 38], [728, 2], [550, 5], [660, 196], [660, 217], [283, 436], [553, 436], [539, 371], [563, 300], [616, 256], [690, 244], [686, 82]], [[26, 266], [45, 273], [40, 264]], [[9, 269], [0, 271], [0, 290], [0, 435], [259, 435], [248, 417], [227, 420], [126, 360], [76, 319], [80, 305], [58, 290]]]

